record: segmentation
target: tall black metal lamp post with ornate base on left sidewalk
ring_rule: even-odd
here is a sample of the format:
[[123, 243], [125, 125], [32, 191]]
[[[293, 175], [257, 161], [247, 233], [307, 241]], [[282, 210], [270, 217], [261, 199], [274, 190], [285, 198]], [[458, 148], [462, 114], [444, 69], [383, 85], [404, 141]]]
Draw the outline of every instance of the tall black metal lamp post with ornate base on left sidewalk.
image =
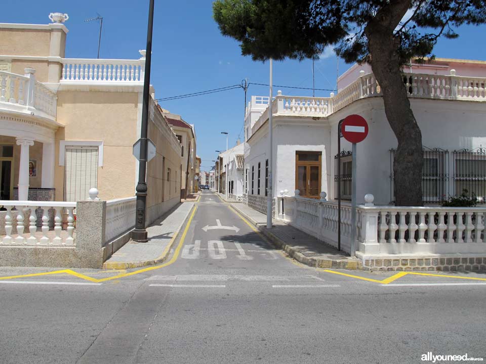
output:
[[148, 105], [150, 93], [150, 63], [152, 58], [152, 28], [153, 28], [153, 2], [150, 0], [147, 29], [147, 48], [145, 54], [145, 77], [143, 80], [143, 102], [142, 102], [142, 127], [140, 130], [140, 164], [138, 168], [137, 184], [137, 212], [135, 218], [135, 230], [132, 232], [132, 239], [136, 242], [147, 242], [147, 231], [145, 230], [145, 206], [147, 201], [147, 183], [145, 173], [147, 170], [147, 129], [148, 129]]

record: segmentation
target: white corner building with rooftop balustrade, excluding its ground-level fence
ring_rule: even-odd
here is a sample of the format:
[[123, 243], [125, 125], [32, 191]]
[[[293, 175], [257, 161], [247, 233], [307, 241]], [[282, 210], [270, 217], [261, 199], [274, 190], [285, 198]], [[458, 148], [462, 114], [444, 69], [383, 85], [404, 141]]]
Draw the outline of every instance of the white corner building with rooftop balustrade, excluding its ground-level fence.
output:
[[[434, 64], [407, 67], [404, 82], [422, 130], [424, 201], [439, 203], [463, 189], [486, 196], [486, 62], [436, 59]], [[412, 71], [410, 73], [410, 71]], [[338, 82], [330, 97], [284, 96], [272, 103], [273, 197], [287, 190], [293, 196], [337, 199], [337, 124], [350, 114], [369, 124], [368, 138], [357, 146], [357, 198], [367, 193], [378, 204], [393, 202], [393, 149], [396, 138], [385, 116], [380, 88], [369, 65], [355, 65]], [[252, 96], [245, 119], [245, 191], [248, 204], [266, 212], [268, 160], [268, 97]], [[341, 139], [344, 181], [342, 198], [350, 199], [351, 145]], [[467, 160], [467, 162], [463, 162]], [[473, 175], [478, 174], [479, 179]]]

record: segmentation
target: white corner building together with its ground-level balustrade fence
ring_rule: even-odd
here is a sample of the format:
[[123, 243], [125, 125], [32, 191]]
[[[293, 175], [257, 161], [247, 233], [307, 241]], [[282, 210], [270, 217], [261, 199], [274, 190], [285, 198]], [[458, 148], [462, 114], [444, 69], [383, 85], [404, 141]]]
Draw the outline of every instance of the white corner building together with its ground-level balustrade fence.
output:
[[[355, 247], [363, 266], [387, 269], [389, 262], [400, 258], [401, 269], [417, 270], [409, 259], [427, 257], [432, 264], [426, 264], [430, 265], [426, 269], [453, 270], [447, 262], [460, 256], [461, 264], [469, 262], [464, 270], [477, 270], [478, 265], [470, 265], [470, 261], [486, 257], [486, 209], [482, 205], [486, 199], [486, 149], [482, 147], [486, 145], [486, 62], [436, 59], [433, 64], [413, 64], [403, 71], [422, 131], [423, 200], [429, 206], [392, 206], [397, 141], [371, 68], [354, 65], [339, 78], [337, 95], [295, 97], [277, 92], [272, 101], [274, 216], [337, 246], [336, 170], [340, 161], [341, 248], [351, 251], [351, 209], [346, 203], [351, 197], [351, 145], [341, 139], [342, 157], [337, 157], [337, 126], [346, 116], [358, 114], [369, 125], [368, 137], [357, 145], [356, 197], [358, 204], [366, 205], [357, 209]], [[245, 119], [244, 200], [263, 213], [268, 184], [268, 103], [268, 97], [253, 96]], [[464, 190], [477, 196], [477, 207], [437, 207]], [[322, 199], [322, 192], [327, 199]], [[457, 265], [455, 269], [459, 269]]]

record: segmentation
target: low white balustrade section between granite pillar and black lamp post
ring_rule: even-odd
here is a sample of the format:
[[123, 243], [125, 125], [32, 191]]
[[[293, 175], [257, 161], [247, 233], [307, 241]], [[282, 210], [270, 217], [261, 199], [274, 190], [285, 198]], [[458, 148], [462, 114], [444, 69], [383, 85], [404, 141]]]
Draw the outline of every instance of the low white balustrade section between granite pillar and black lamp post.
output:
[[136, 205], [136, 197], [106, 201], [105, 242], [134, 228]]

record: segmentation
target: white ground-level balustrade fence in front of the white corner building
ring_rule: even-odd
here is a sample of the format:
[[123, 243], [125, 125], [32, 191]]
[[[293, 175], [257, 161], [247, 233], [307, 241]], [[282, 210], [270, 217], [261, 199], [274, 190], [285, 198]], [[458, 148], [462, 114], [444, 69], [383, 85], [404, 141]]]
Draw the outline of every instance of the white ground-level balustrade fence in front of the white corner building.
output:
[[[372, 195], [356, 208], [356, 250], [370, 255], [484, 254], [484, 207], [375, 206]], [[337, 246], [334, 201], [278, 197], [278, 217]], [[283, 208], [282, 208], [283, 204]], [[341, 205], [341, 248], [350, 251], [351, 206]]]

